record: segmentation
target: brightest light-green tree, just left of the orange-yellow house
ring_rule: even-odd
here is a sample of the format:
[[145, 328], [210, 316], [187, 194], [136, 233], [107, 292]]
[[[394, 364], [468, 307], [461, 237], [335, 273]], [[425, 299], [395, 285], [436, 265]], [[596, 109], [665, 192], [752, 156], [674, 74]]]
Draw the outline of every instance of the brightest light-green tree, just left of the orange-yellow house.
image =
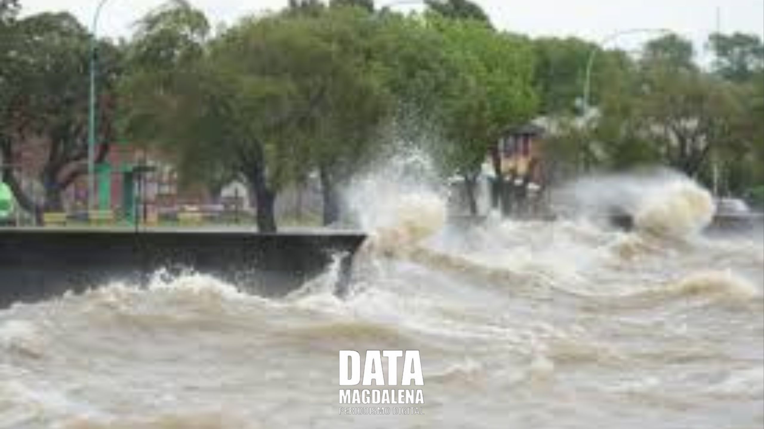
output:
[[471, 211], [477, 212], [475, 181], [481, 165], [508, 127], [529, 121], [537, 109], [534, 56], [529, 40], [499, 33], [478, 21], [436, 21], [457, 66], [442, 98], [446, 173], [464, 179]]

